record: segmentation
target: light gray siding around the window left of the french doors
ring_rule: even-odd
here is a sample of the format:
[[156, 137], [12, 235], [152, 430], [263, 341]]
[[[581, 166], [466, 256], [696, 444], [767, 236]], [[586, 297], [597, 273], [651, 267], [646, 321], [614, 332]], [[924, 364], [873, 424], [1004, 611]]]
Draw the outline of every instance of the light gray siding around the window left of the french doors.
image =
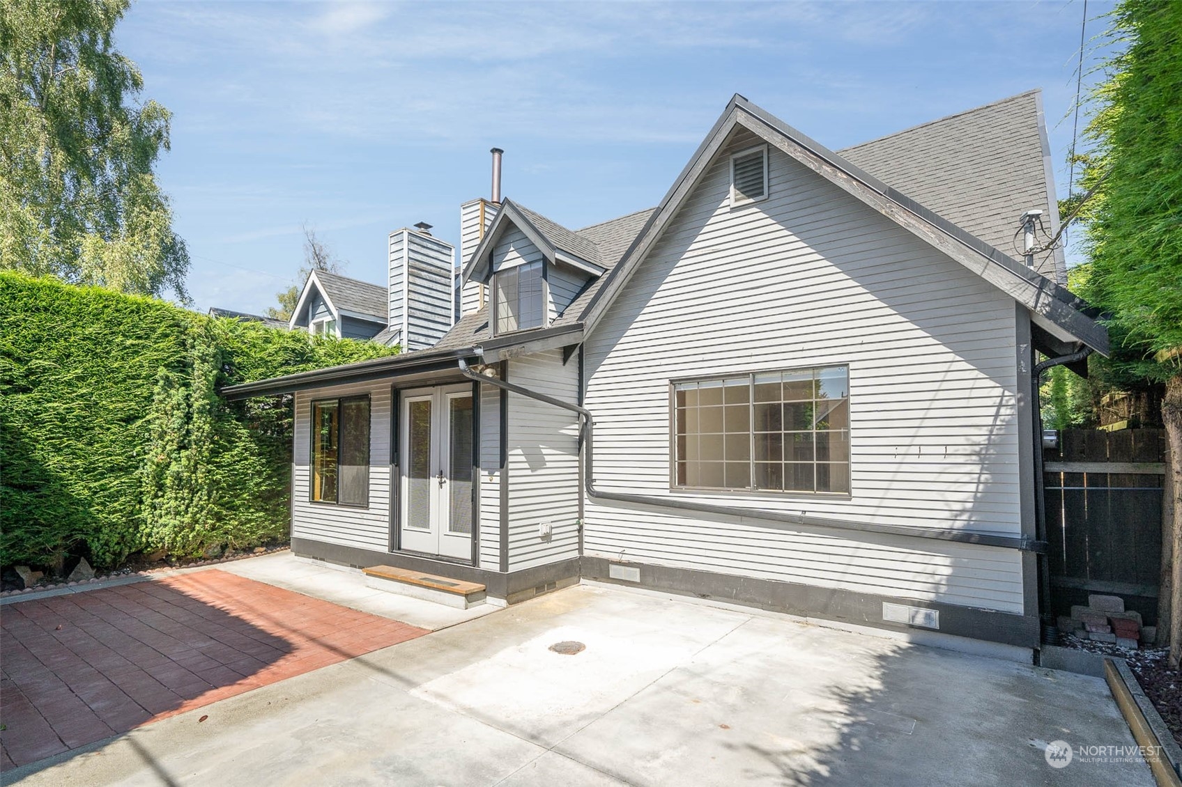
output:
[[[312, 402], [370, 395], [370, 495], [368, 508], [309, 501]], [[292, 538], [387, 552], [390, 516], [390, 386], [338, 385], [296, 394]]]

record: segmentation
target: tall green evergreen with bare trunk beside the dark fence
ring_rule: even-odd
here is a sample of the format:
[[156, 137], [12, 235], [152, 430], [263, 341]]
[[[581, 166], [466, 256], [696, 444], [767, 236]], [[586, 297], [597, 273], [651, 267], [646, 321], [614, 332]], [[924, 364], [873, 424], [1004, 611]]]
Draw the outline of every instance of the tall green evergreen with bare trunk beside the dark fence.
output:
[[[1173, 490], [1167, 521], [1182, 513], [1182, 2], [1123, 0], [1110, 37], [1119, 53], [1091, 96], [1095, 143], [1083, 186], [1087, 277], [1082, 294], [1111, 314], [1119, 373], [1164, 381], [1162, 419]], [[1170, 662], [1182, 656], [1182, 527], [1168, 525], [1163, 605]], [[1164, 545], [1163, 545], [1164, 546]], [[1168, 587], [1167, 587], [1168, 586]], [[1167, 592], [1168, 591], [1168, 592]]]

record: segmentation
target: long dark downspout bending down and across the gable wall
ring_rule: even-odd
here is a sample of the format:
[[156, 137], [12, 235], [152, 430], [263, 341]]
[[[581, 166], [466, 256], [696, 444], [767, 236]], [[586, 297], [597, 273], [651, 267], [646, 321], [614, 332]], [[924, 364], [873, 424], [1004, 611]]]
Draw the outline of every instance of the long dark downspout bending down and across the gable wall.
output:
[[[479, 355], [479, 353], [478, 353]], [[1070, 362], [1065, 362], [1070, 363]], [[1022, 535], [1014, 538], [1011, 535], [991, 535], [988, 533], [967, 533], [965, 531], [941, 529], [935, 527], [915, 527], [905, 525], [876, 525], [872, 522], [855, 522], [847, 520], [833, 520], [821, 516], [806, 516], [804, 514], [788, 514], [782, 512], [759, 510], [752, 508], [739, 508], [735, 506], [715, 506], [712, 503], [699, 503], [689, 500], [677, 500], [673, 497], [657, 497], [651, 495], [634, 495], [622, 492], [602, 492], [595, 487], [595, 462], [593, 462], [593, 429], [595, 417], [586, 408], [570, 402], [563, 402], [546, 394], [531, 391], [521, 385], [488, 377], [472, 370], [468, 363], [459, 359], [460, 373], [469, 379], [474, 379], [488, 385], [494, 385], [504, 391], [512, 391], [531, 399], [553, 404], [557, 408], [577, 412], [583, 421], [579, 436], [583, 438], [583, 450], [586, 456], [584, 463], [583, 486], [587, 494], [600, 500], [617, 500], [621, 502], [639, 503], [643, 506], [661, 506], [664, 508], [677, 508], [682, 510], [702, 512], [707, 514], [721, 514], [723, 516], [746, 516], [748, 519], [761, 519], [774, 522], [787, 522], [790, 525], [804, 525], [806, 527], [829, 527], [845, 531], [860, 531], [864, 533], [884, 533], [890, 535], [905, 535], [909, 538], [937, 539], [941, 541], [959, 541], [961, 544], [981, 544], [985, 546], [1005, 547], [1020, 549], [1022, 552], [1045, 552], [1046, 542], [1043, 540], [1031, 540]]]

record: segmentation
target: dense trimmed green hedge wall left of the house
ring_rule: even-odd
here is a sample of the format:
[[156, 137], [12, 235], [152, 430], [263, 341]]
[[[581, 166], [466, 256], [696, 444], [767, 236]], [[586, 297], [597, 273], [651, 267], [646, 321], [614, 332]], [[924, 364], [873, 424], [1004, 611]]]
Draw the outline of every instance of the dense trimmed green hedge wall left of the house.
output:
[[0, 273], [0, 565], [286, 538], [291, 399], [216, 388], [392, 352]]

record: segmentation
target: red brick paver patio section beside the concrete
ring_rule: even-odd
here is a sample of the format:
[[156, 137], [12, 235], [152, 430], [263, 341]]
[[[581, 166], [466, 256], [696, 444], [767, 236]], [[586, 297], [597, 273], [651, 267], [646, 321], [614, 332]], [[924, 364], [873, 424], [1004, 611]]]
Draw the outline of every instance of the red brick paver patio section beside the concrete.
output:
[[0, 769], [427, 633], [209, 570], [0, 607]]

